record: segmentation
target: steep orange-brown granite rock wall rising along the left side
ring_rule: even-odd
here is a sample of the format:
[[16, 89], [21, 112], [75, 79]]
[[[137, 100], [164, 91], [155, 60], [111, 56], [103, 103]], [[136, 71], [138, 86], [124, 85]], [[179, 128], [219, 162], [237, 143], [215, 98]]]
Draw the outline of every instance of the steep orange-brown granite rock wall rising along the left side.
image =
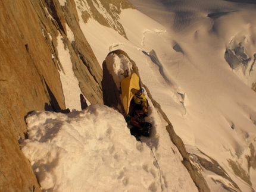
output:
[[40, 191], [18, 138], [26, 137], [24, 117], [30, 111], [65, 109], [58, 36], [83, 95], [90, 103], [103, 103], [102, 70], [80, 29], [76, 4], [60, 2], [0, 1], [0, 191]]

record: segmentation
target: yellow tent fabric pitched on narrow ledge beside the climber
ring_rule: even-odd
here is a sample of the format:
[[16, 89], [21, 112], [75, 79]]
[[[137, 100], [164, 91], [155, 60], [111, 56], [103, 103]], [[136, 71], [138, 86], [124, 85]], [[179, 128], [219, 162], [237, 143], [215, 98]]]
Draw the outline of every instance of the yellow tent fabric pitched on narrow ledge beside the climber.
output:
[[139, 89], [139, 77], [136, 73], [121, 80], [121, 99], [126, 115], [129, 114], [130, 101]]

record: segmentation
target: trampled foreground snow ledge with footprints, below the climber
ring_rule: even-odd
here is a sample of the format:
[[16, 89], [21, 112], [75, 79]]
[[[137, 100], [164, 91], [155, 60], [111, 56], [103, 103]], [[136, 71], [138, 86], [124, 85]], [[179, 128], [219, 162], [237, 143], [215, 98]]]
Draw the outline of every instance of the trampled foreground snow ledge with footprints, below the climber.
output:
[[[161, 150], [149, 148], [107, 106], [70, 114], [38, 111], [26, 121], [29, 139], [21, 146], [43, 191], [196, 191], [168, 138], [160, 140]], [[165, 131], [161, 121], [155, 126]]]

